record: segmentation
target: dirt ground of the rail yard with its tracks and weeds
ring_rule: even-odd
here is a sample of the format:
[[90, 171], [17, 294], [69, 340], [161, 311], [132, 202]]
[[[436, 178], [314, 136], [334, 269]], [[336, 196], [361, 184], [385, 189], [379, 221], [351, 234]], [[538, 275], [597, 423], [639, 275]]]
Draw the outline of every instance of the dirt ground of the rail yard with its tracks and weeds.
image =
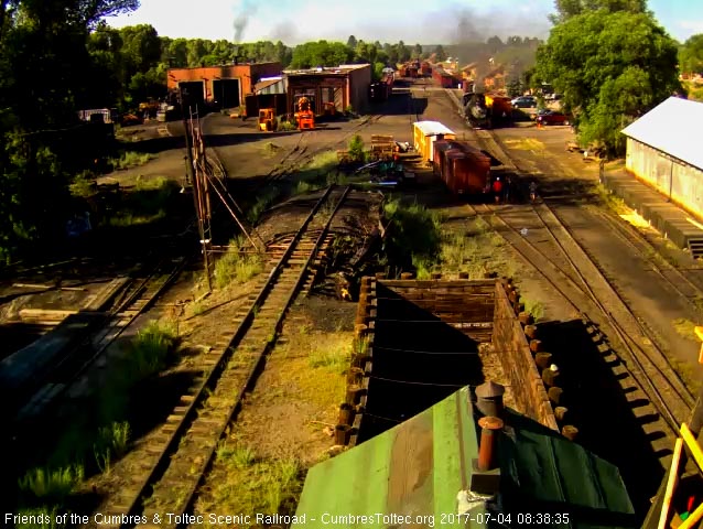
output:
[[[14, 454], [6, 461], [10, 485], [87, 451], [90, 465], [65, 471], [80, 473], [80, 494], [62, 498], [87, 517], [79, 527], [98, 527], [95, 512], [118, 517], [110, 527], [163, 512], [294, 514], [305, 472], [347, 450], [335, 427], [359, 355], [360, 322], [357, 303], [340, 299], [339, 272], [366, 256], [365, 245], [381, 246], [379, 237], [421, 238], [391, 231], [389, 206], [404, 205], [435, 215], [442, 241], [441, 259], [426, 270], [432, 280], [511, 278], [536, 324], [533, 353], [549, 353], [545, 366], [559, 366], [563, 397], [549, 393], [555, 409], [567, 409], [556, 413], [559, 428], [570, 427], [577, 443], [619, 468], [643, 517], [701, 390], [693, 326], [703, 316], [703, 266], [614, 199], [599, 185], [597, 162], [566, 152], [570, 127], [472, 129], [459, 97], [429, 79], [405, 79], [371, 114], [302, 132], [203, 117], [205, 152], [231, 197], [258, 208], [245, 215], [247, 228], [255, 226], [248, 240], [210, 193], [213, 240], [227, 246], [238, 236], [229, 242], [236, 247], [213, 253], [212, 292], [193, 198], [177, 192], [167, 206], [177, 213], [166, 223], [3, 281], [2, 339], [11, 345], [3, 357], [37, 338], [45, 344], [37, 355], [55, 354], [56, 344], [66, 354], [41, 373], [31, 357], [12, 364], [19, 389], [3, 395], [13, 418], [3, 435], [4, 453]], [[510, 201], [453, 196], [412, 152], [404, 169], [415, 182], [392, 190], [338, 164], [337, 151], [355, 136], [367, 147], [375, 136], [412, 144], [417, 121], [439, 121], [488, 153], [491, 174], [512, 182]], [[148, 191], [165, 179], [177, 187], [184, 133], [181, 122], [170, 122], [142, 140], [159, 142], [145, 147], [156, 151], [154, 160], [100, 183]], [[379, 236], [379, 228], [389, 233]], [[382, 253], [367, 253], [374, 252]], [[390, 259], [371, 261], [364, 276], [400, 271]], [[139, 339], [167, 350], [141, 361], [132, 345]], [[483, 378], [506, 386], [506, 404], [515, 404], [500, 352], [485, 347], [480, 355]], [[4, 389], [14, 388], [7, 370], [0, 375]], [[95, 431], [107, 444], [84, 446]], [[131, 526], [120, 516], [132, 517]], [[158, 527], [184, 526], [175, 516], [162, 521]]]

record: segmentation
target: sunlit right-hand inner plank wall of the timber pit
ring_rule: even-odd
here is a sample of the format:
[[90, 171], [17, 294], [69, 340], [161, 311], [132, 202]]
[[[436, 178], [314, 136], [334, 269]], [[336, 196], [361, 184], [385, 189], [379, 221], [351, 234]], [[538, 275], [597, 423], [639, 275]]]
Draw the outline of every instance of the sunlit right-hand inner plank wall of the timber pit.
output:
[[494, 319], [493, 345], [498, 353], [502, 370], [508, 378], [519, 411], [541, 424], [559, 431], [554, 410], [544, 382], [532, 356], [539, 341], [526, 335], [534, 334], [531, 316], [523, 312], [519, 292], [508, 281], [498, 281]]

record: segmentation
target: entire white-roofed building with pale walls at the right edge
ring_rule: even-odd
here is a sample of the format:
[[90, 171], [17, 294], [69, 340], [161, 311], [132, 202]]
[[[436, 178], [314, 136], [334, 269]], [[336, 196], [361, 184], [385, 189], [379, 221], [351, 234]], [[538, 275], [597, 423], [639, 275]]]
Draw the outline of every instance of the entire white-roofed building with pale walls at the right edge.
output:
[[670, 97], [629, 127], [627, 170], [703, 218], [703, 104]]

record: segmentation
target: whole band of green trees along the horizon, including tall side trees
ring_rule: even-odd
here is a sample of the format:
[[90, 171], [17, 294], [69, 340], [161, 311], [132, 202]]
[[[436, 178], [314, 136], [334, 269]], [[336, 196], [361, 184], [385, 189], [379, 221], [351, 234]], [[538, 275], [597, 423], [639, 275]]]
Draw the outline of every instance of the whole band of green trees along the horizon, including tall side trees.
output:
[[0, 0], [0, 262], [56, 235], [72, 202], [67, 185], [95, 160], [89, 137], [74, 132], [76, 111], [136, 109], [165, 94], [170, 67], [278, 61], [307, 68], [411, 58], [494, 58], [549, 82], [577, 115], [583, 141], [621, 150], [619, 130], [681, 89], [678, 65], [703, 69], [703, 35], [683, 44], [659, 26], [646, 0], [556, 0], [545, 43], [497, 36], [461, 45], [317, 41], [232, 43], [170, 39], [151, 25], [113, 29], [104, 20], [139, 0]]

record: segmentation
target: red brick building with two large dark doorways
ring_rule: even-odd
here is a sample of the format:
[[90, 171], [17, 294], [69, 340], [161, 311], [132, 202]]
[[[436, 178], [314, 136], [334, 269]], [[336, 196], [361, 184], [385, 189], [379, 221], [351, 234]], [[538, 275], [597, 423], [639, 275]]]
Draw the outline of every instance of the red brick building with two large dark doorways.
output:
[[181, 89], [192, 101], [218, 102], [225, 108], [239, 107], [262, 77], [281, 75], [280, 63], [228, 64], [196, 68], [170, 68], [169, 91]]

